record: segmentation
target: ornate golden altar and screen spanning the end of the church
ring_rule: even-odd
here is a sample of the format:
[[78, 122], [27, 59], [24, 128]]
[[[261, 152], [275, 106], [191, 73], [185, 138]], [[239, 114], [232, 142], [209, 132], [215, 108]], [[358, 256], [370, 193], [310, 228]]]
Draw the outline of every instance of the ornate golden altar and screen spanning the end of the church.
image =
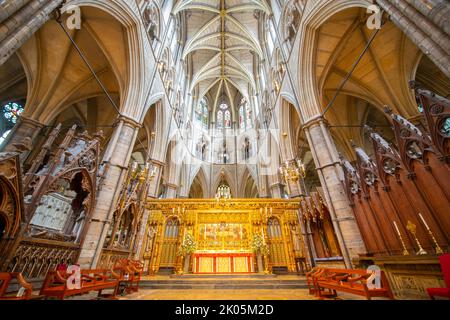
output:
[[[151, 274], [251, 274], [273, 267], [295, 272], [299, 205], [284, 199], [152, 199], [143, 243], [145, 268]], [[256, 235], [269, 251], [264, 270], [256, 263]], [[180, 254], [185, 241], [193, 247], [188, 260]]]

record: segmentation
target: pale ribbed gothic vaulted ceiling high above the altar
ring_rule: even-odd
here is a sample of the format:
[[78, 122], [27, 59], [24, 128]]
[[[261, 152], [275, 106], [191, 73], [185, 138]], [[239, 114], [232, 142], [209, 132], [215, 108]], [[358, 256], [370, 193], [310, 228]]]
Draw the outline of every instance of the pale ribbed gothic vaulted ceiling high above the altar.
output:
[[[263, 57], [258, 13], [270, 14], [265, 0], [181, 0], [187, 41], [183, 60], [192, 67], [191, 92], [208, 96], [214, 106], [224, 99], [234, 107], [240, 95], [256, 92], [255, 61]], [[232, 108], [234, 109], [234, 108]]]

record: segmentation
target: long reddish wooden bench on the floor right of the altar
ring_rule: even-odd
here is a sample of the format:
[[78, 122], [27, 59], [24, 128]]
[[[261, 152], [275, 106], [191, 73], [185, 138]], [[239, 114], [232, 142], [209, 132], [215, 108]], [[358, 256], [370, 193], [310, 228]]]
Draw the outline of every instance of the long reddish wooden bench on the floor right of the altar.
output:
[[356, 294], [370, 300], [373, 297], [394, 299], [391, 288], [381, 271], [381, 288], [369, 289], [367, 279], [371, 276], [367, 270], [323, 268], [313, 277], [314, 293], [319, 298], [336, 297], [337, 291]]

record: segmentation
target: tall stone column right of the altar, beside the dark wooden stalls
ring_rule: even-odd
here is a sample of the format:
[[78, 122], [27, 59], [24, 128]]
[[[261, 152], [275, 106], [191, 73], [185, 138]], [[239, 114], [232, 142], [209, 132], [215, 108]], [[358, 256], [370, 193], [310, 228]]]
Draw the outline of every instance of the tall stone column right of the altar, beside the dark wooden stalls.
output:
[[325, 200], [330, 211], [345, 265], [351, 267], [351, 258], [357, 257], [360, 253], [365, 253], [366, 249], [345, 194], [342, 182], [343, 171], [336, 146], [322, 117], [306, 123], [304, 130], [323, 187]]

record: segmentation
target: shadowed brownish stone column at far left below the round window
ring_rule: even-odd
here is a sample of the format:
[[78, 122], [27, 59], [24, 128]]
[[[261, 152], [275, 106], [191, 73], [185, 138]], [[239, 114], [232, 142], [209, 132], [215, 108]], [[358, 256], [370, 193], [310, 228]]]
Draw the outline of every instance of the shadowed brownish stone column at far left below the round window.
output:
[[[28, 140], [29, 143], [33, 143], [33, 141], [38, 136], [39, 132], [41, 132], [44, 125], [40, 123], [39, 121], [19, 116], [19, 119], [12, 129], [12, 131], [8, 134], [6, 137], [3, 147], [1, 148], [2, 151], [15, 151], [17, 144], [24, 144], [27, 143], [26, 140]], [[31, 145], [30, 145], [31, 147]], [[24, 162], [27, 158], [30, 151], [25, 151], [20, 154], [20, 162]]]

